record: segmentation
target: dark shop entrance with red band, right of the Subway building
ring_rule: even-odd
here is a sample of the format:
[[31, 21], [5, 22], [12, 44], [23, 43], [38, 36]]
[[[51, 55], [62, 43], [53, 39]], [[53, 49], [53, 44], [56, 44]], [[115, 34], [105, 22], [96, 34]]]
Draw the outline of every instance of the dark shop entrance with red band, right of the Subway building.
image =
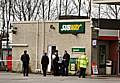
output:
[[[97, 64], [99, 75], [118, 74], [118, 30], [95, 30], [92, 61]], [[94, 44], [94, 43], [93, 43]]]

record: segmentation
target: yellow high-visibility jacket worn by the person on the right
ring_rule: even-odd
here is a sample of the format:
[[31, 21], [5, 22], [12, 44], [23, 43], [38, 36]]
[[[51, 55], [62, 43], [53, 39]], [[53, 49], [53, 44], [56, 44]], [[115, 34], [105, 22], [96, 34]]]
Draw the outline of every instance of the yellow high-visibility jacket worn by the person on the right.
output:
[[88, 65], [88, 57], [86, 55], [81, 55], [79, 58], [78, 58], [78, 63], [80, 65], [80, 67], [82, 68], [87, 68], [87, 65]]

